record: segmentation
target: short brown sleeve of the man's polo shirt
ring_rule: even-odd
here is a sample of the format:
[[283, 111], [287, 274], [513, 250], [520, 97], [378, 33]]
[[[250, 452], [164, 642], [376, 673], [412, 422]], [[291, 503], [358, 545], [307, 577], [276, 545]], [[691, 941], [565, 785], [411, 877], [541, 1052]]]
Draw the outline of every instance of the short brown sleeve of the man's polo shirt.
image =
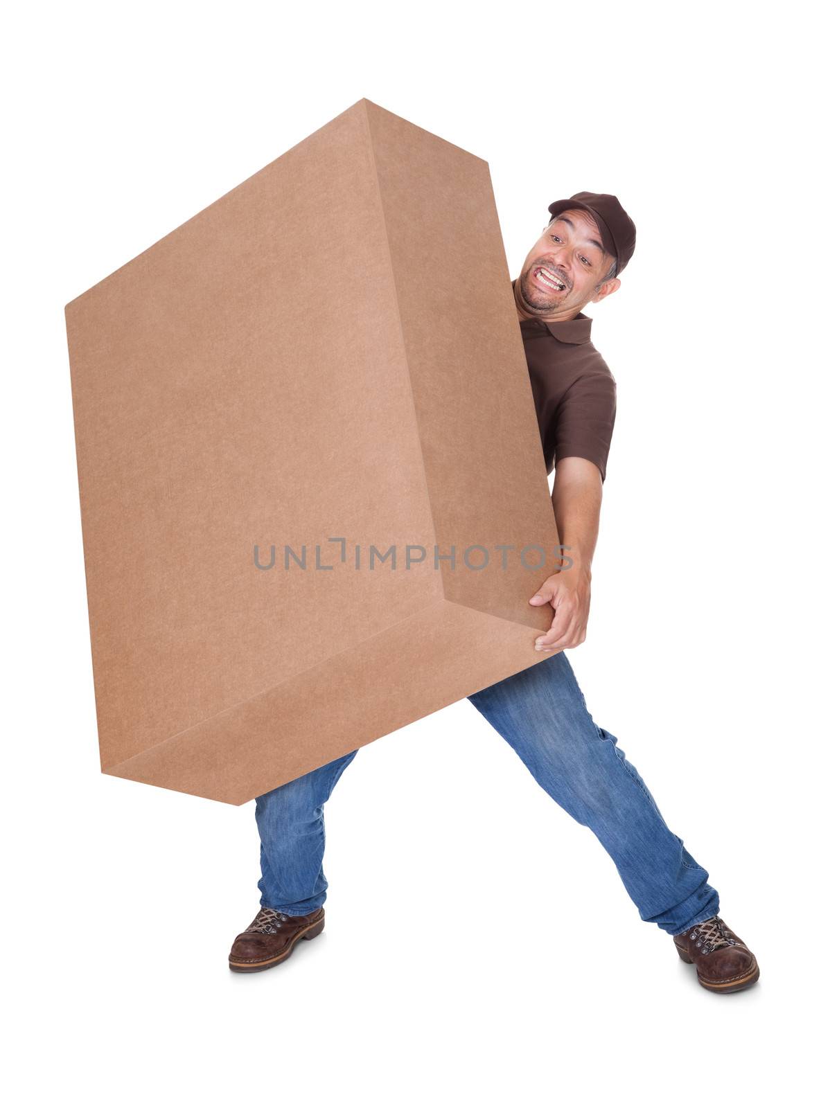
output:
[[616, 422], [616, 381], [609, 369], [585, 373], [569, 386], [556, 410], [556, 461], [586, 458], [607, 471]]

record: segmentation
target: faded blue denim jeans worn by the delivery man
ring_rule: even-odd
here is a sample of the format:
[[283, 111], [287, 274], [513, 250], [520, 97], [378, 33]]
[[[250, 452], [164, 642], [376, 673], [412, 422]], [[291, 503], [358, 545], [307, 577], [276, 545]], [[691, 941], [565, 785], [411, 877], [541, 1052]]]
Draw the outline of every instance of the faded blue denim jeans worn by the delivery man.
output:
[[[616, 737], [594, 724], [564, 652], [468, 699], [545, 792], [593, 831], [643, 920], [678, 935], [718, 913], [707, 871], [667, 827]], [[356, 753], [257, 798], [263, 906], [307, 915], [325, 903], [324, 804]]]

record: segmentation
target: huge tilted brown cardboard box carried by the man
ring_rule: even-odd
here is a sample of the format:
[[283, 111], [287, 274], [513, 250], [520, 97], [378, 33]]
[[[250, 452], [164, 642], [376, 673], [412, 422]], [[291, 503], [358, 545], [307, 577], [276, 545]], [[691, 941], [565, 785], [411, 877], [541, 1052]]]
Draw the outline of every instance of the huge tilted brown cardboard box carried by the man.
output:
[[482, 158], [360, 100], [65, 317], [105, 773], [240, 804], [544, 659]]

